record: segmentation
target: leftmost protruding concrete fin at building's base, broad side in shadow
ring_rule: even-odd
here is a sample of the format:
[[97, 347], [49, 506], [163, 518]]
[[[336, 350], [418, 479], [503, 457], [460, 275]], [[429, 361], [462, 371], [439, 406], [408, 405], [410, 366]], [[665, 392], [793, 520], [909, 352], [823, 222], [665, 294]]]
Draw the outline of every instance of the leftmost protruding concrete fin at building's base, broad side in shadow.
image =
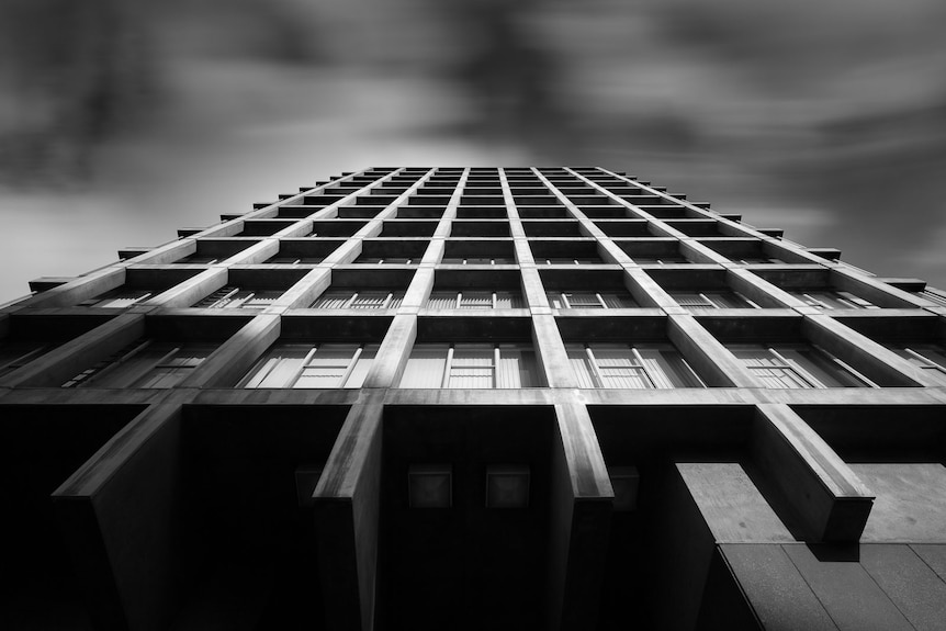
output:
[[132, 420], [53, 493], [99, 629], [167, 629], [191, 575], [174, 394]]

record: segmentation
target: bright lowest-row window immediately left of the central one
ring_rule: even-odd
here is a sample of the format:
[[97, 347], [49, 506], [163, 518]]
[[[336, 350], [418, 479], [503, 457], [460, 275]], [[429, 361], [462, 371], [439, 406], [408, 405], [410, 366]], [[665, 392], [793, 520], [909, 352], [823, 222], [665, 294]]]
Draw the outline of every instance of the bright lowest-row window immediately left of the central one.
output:
[[378, 345], [280, 343], [237, 387], [361, 387]]

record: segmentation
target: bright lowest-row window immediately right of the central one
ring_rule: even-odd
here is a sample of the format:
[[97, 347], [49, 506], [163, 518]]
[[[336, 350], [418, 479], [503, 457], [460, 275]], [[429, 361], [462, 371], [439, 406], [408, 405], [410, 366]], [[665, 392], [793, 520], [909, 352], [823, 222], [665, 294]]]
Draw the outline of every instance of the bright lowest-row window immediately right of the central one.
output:
[[668, 343], [566, 345], [578, 387], [706, 387]]

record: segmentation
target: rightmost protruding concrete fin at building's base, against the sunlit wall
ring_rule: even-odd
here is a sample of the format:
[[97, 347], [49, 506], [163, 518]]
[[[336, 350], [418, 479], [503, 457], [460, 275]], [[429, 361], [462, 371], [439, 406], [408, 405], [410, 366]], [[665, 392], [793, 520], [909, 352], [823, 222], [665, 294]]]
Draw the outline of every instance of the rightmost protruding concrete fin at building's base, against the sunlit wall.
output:
[[787, 405], [761, 404], [753, 458], [775, 482], [814, 541], [857, 541], [874, 494], [831, 447]]

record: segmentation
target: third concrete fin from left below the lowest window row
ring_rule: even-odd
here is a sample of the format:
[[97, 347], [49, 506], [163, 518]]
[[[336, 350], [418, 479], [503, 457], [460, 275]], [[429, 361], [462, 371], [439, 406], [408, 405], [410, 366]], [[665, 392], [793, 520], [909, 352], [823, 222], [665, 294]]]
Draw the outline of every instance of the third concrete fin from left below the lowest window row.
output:
[[556, 405], [552, 453], [549, 629], [597, 622], [615, 493], [584, 405]]

